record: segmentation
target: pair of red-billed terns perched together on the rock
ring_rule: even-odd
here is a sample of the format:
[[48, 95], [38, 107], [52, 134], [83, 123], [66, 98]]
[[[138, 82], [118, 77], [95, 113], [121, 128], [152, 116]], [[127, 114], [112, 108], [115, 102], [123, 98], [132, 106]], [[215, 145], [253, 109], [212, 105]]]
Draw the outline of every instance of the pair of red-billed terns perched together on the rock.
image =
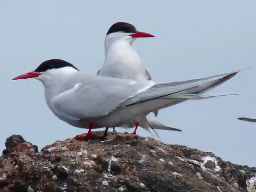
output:
[[241, 70], [181, 82], [156, 84], [132, 48], [141, 37], [154, 37], [138, 31], [132, 24], [113, 24], [105, 38], [105, 60], [97, 75], [79, 71], [71, 63], [51, 59], [41, 63], [34, 71], [19, 75], [13, 80], [35, 78], [44, 85], [47, 106], [60, 120], [91, 130], [106, 127], [102, 136], [107, 137], [108, 127], [132, 128], [138, 126], [148, 132], [154, 129], [181, 131], [147, 118], [151, 112], [186, 100], [207, 99], [245, 92], [210, 94], [205, 92], [224, 83]]

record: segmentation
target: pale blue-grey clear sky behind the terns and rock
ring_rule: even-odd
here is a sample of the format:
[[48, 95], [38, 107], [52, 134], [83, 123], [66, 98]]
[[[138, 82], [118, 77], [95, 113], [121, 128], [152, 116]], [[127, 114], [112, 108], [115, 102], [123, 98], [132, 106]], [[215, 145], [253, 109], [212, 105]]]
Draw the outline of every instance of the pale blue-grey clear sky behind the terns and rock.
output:
[[[118, 21], [156, 36], [133, 44], [156, 83], [251, 68], [209, 93], [256, 91], [255, 7], [255, 0], [2, 1], [0, 150], [12, 134], [22, 135], [41, 149], [87, 132], [52, 114], [39, 81], [12, 78], [53, 58], [95, 74], [104, 61], [108, 28]], [[164, 143], [211, 151], [223, 160], [256, 166], [256, 123], [236, 119], [256, 116], [255, 97], [192, 100], [163, 109], [157, 119], [183, 132], [157, 133]], [[142, 128], [138, 134], [150, 136]]]

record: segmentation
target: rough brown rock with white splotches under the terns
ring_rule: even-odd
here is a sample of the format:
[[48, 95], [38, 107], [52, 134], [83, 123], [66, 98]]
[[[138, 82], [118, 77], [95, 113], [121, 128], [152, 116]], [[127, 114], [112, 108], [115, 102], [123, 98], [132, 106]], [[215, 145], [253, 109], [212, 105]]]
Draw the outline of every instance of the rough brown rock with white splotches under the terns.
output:
[[93, 132], [38, 151], [20, 135], [6, 139], [0, 192], [256, 192], [256, 168], [211, 152], [130, 133]]

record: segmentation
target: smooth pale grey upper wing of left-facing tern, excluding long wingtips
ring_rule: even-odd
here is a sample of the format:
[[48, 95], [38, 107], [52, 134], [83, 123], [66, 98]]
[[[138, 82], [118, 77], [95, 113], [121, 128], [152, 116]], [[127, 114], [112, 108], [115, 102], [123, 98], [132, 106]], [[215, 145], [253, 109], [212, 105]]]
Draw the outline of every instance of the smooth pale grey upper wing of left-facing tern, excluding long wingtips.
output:
[[117, 79], [109, 80], [108, 77], [96, 77], [101, 78], [101, 81], [93, 79], [90, 84], [77, 83], [55, 96], [52, 107], [56, 113], [72, 120], [105, 116], [138, 94], [140, 89], [146, 89], [145, 84], [135, 84], [130, 80], [120, 82]]

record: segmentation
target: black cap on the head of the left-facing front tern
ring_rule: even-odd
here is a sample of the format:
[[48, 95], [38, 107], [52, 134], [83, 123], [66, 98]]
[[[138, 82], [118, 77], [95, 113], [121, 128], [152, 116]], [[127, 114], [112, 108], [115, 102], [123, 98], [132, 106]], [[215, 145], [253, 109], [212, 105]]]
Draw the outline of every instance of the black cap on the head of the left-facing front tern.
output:
[[50, 59], [50, 60], [46, 60], [43, 63], [41, 63], [34, 70], [34, 72], [40, 73], [40, 72], [45, 72], [48, 69], [53, 69], [53, 68], [57, 69], [57, 68], [62, 68], [62, 67], [72, 67], [72, 68], [78, 70], [74, 65], [72, 65], [68, 61], [64, 61], [64, 60], [61, 60], [61, 59]]

